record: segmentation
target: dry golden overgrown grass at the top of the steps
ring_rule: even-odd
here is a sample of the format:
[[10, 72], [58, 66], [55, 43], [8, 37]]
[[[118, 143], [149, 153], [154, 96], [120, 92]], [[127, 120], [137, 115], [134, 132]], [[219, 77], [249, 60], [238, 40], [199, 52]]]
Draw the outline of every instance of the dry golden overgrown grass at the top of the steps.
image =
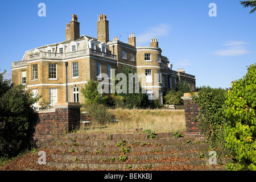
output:
[[141, 133], [151, 129], [155, 133], [184, 131], [184, 110], [170, 109], [109, 109], [115, 119], [107, 125], [93, 122], [90, 126], [82, 127], [77, 133]]

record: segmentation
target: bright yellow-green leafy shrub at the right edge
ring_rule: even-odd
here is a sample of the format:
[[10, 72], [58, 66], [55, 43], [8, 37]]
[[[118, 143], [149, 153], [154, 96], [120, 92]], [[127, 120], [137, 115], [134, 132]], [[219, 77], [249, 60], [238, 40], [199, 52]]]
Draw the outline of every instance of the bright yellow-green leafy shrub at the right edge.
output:
[[256, 64], [250, 65], [240, 80], [232, 83], [226, 94], [225, 117], [230, 121], [226, 127], [226, 147], [230, 148], [237, 163], [229, 169], [256, 170]]

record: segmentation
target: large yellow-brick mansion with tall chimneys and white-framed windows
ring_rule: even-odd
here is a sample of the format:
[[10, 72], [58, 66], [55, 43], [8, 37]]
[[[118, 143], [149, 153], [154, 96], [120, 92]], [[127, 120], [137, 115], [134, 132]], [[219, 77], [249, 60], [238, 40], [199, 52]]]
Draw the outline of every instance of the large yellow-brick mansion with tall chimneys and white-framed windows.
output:
[[[150, 46], [141, 47], [136, 46], [134, 34], [130, 34], [128, 43], [119, 41], [117, 37], [110, 41], [106, 15], [99, 16], [97, 38], [93, 38], [80, 35], [77, 15], [72, 14], [65, 36], [64, 42], [28, 50], [22, 61], [13, 62], [13, 83], [24, 84], [34, 95], [49, 98], [51, 105], [82, 103], [81, 88], [90, 78], [97, 80], [101, 73], [107, 73], [109, 81], [105, 84], [110, 85], [111, 70], [117, 67], [121, 73], [126, 65], [145, 75], [146, 81], [141, 84], [147, 93], [152, 93], [154, 88], [159, 89], [161, 104], [163, 89], [175, 89], [178, 79], [188, 82], [189, 87], [195, 90], [195, 76], [183, 69], [172, 70], [172, 64], [162, 55], [157, 39], [151, 39]], [[158, 83], [152, 86], [154, 73], [159, 73]]]

